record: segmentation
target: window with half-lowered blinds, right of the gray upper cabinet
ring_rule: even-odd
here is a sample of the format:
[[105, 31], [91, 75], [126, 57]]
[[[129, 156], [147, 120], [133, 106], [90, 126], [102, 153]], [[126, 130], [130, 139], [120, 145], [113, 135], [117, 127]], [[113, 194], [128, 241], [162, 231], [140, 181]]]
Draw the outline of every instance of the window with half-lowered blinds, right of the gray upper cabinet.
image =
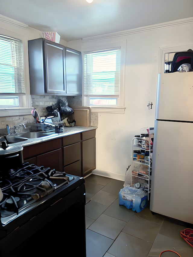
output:
[[84, 103], [96, 107], [119, 105], [121, 49], [84, 54]]

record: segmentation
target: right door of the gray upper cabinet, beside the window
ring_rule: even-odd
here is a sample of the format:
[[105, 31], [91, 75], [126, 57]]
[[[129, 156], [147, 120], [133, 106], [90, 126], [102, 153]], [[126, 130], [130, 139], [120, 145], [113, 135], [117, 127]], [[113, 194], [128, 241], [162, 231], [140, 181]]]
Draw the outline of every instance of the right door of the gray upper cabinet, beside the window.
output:
[[65, 48], [66, 93], [81, 95], [81, 52]]

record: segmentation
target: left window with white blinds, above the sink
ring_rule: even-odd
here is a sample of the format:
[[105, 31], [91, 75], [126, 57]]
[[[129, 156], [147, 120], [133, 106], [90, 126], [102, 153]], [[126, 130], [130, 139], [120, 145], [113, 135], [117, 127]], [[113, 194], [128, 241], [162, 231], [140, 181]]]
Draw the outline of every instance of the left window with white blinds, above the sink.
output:
[[23, 43], [0, 35], [0, 106], [19, 107], [24, 93]]

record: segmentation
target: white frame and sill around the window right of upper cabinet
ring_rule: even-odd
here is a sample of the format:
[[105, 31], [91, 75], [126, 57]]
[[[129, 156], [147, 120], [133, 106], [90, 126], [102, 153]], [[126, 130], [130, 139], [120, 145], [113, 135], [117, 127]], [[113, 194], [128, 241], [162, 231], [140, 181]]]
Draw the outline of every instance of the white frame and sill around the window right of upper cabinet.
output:
[[[91, 52], [102, 52], [106, 49], [121, 49], [121, 67], [120, 67], [120, 88], [119, 88], [119, 97], [118, 97], [118, 103], [116, 106], [91, 106], [92, 112], [107, 112], [107, 113], [121, 113], [123, 114], [125, 112], [125, 66], [126, 66], [126, 43], [127, 40], [123, 41], [116, 41], [112, 42], [104, 42], [104, 39], [101, 40], [101, 44], [99, 42], [100, 40], [95, 40], [92, 42], [84, 42], [82, 43], [81, 51], [82, 51], [82, 105], [88, 106], [88, 98], [87, 96], [84, 96], [84, 55], [91, 53]], [[108, 41], [105, 40], [105, 41]]]

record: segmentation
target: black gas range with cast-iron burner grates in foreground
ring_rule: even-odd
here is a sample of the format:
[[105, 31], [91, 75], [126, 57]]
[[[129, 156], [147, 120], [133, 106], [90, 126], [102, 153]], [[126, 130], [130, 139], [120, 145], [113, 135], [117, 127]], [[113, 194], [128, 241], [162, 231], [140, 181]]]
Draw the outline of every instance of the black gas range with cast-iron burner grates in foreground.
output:
[[0, 176], [1, 257], [34, 256], [40, 249], [55, 255], [72, 244], [74, 255], [86, 256], [82, 177], [29, 163]]

